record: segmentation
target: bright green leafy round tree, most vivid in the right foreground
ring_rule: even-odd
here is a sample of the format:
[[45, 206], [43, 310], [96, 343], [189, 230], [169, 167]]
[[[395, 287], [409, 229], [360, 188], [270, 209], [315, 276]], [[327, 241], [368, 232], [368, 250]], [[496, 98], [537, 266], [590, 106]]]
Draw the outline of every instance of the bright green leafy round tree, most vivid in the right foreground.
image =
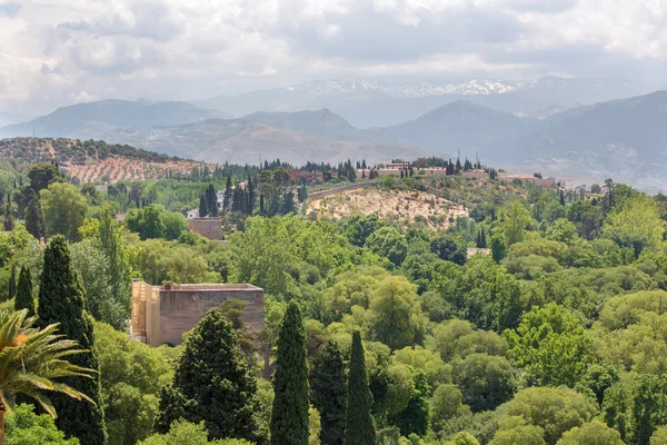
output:
[[590, 362], [590, 339], [581, 323], [556, 304], [534, 308], [516, 332], [504, 336], [508, 356], [541, 385], [574, 387]]

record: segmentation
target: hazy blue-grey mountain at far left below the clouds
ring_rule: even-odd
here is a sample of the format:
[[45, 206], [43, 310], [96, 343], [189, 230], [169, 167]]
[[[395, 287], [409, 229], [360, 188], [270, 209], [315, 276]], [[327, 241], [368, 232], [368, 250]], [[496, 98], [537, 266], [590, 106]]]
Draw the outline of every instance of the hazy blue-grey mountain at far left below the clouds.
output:
[[62, 107], [24, 123], [0, 128], [0, 137], [32, 136], [98, 139], [117, 128], [150, 128], [191, 123], [226, 115], [188, 102], [101, 100]]

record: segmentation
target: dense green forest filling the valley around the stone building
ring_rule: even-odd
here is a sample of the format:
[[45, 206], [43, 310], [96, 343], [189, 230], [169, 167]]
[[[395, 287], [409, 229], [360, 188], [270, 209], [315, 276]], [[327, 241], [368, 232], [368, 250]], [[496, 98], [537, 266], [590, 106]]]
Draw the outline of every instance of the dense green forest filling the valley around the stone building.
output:
[[[72, 364], [99, 372], [66, 377], [91, 400], [53, 395], [56, 421], [4, 384], [7, 443], [667, 444], [667, 198], [418, 167], [375, 187], [469, 217], [303, 217], [280, 162], [108, 186], [0, 172], [2, 314], [60, 323], [86, 349]], [[225, 241], [187, 231], [186, 210], [218, 211], [210, 190], [231, 197]], [[231, 303], [181, 346], [130, 340], [132, 278], [253, 284], [266, 329]]]

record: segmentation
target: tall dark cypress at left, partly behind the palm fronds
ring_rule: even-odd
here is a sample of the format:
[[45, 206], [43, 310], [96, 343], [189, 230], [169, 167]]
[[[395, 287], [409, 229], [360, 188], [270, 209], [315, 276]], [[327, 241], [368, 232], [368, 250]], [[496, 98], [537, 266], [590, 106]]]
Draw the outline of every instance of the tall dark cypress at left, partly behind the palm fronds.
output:
[[[44, 266], [39, 287], [38, 316], [40, 327], [59, 323], [59, 334], [78, 342], [86, 354], [70, 358], [74, 365], [99, 372], [92, 336], [92, 317], [84, 310], [86, 297], [74, 270], [64, 237], [54, 236], [44, 250]], [[63, 394], [51, 395], [58, 413], [56, 426], [67, 436], [78, 437], [82, 444], [106, 445], [107, 427], [100, 394], [99, 374], [93, 378], [66, 377], [62, 383], [88, 395], [96, 405], [70, 398]]]

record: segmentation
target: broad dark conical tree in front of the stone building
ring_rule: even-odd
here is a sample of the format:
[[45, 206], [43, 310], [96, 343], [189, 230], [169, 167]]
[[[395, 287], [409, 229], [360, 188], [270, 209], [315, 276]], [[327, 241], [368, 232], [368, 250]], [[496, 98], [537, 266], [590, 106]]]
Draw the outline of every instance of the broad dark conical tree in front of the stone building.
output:
[[209, 310], [182, 347], [171, 387], [162, 392], [156, 429], [166, 434], [176, 421], [183, 418], [203, 422], [210, 438], [267, 444], [257, 378], [222, 312]]

